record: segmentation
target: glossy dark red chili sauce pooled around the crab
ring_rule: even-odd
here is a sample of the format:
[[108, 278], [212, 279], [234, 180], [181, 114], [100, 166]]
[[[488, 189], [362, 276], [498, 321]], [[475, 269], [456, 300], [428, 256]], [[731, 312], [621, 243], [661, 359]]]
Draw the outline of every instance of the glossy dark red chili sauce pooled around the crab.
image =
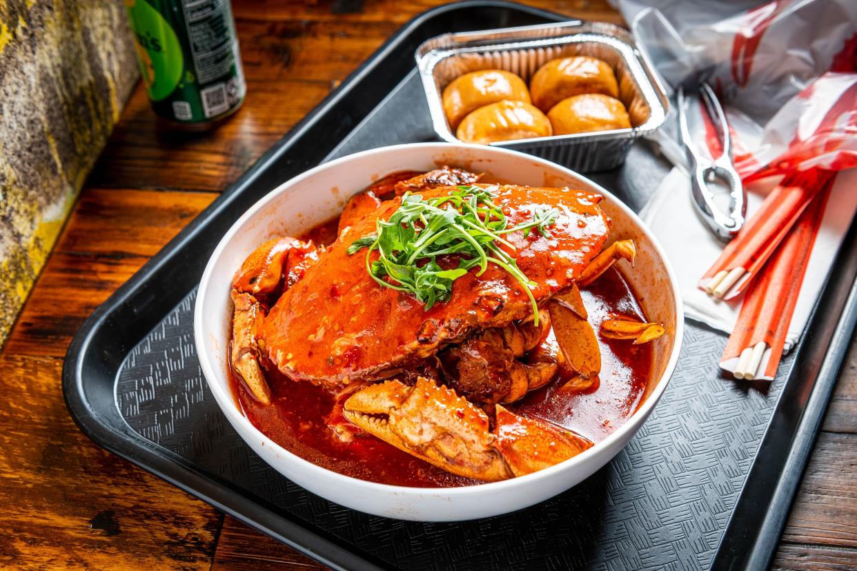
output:
[[[337, 235], [337, 220], [301, 237], [327, 245]], [[597, 331], [610, 315], [644, 320], [631, 288], [620, 271], [611, 268], [582, 291], [589, 321]], [[553, 332], [551, 333], [553, 335]], [[563, 390], [567, 378], [557, 375], [542, 389], [507, 405], [525, 416], [550, 420], [597, 443], [614, 431], [643, 400], [650, 377], [652, 350], [649, 343], [599, 336], [602, 370], [590, 390]], [[333, 408], [333, 393], [322, 386], [295, 382], [276, 371], [266, 371], [272, 403], [263, 406], [243, 384], [231, 378], [233, 395], [244, 415], [256, 428], [283, 448], [321, 467], [381, 484], [416, 487], [450, 487], [481, 482], [447, 473], [428, 462], [363, 434], [351, 443], [340, 442], [328, 428], [326, 417]]]

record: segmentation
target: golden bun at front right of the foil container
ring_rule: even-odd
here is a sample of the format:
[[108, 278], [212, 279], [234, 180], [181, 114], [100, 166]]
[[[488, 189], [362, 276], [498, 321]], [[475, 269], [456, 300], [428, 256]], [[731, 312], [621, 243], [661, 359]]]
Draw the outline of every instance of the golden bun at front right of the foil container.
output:
[[548, 119], [557, 135], [631, 128], [625, 105], [601, 93], [563, 99], [548, 111]]

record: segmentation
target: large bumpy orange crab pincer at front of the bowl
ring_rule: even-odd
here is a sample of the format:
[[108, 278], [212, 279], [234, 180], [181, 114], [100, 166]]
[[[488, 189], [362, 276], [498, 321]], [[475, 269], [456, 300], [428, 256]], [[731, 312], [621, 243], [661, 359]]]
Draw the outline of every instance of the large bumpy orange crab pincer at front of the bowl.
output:
[[466, 478], [495, 481], [512, 472], [492, 448], [488, 415], [455, 391], [417, 378], [387, 381], [345, 401], [345, 418], [386, 443]]

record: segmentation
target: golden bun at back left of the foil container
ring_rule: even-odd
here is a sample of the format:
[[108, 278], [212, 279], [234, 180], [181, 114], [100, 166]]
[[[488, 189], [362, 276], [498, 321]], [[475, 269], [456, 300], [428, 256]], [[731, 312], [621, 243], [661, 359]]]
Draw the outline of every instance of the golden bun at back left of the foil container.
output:
[[511, 72], [483, 69], [464, 74], [446, 86], [443, 90], [443, 112], [450, 128], [455, 130], [470, 111], [503, 99], [530, 103], [527, 84]]

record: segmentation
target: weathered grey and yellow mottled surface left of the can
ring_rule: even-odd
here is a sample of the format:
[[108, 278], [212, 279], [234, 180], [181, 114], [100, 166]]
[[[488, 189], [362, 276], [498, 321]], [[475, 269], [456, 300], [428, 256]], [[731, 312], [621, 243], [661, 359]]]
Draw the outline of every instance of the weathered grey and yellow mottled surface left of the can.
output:
[[121, 2], [0, 2], [0, 345], [137, 81]]

